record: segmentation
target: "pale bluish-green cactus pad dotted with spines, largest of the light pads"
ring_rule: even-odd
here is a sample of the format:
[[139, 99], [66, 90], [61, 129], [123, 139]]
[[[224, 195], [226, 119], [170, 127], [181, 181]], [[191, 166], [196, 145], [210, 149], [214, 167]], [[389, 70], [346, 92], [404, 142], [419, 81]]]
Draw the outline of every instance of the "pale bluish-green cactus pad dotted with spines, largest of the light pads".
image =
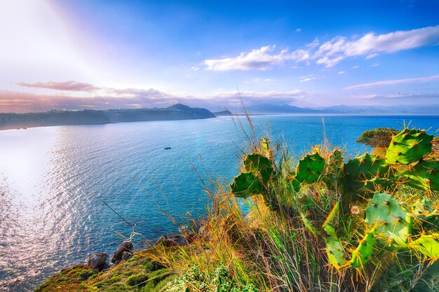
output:
[[413, 217], [407, 210], [386, 193], [374, 194], [367, 203], [365, 223], [377, 225], [380, 246], [390, 250], [407, 249], [407, 240], [412, 232]]

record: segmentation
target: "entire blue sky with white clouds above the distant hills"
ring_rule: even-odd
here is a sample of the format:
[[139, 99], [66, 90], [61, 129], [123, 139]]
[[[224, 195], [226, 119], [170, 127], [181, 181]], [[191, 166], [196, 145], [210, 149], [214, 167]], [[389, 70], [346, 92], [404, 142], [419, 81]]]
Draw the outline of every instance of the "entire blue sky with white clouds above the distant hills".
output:
[[0, 112], [439, 104], [439, 1], [0, 0]]

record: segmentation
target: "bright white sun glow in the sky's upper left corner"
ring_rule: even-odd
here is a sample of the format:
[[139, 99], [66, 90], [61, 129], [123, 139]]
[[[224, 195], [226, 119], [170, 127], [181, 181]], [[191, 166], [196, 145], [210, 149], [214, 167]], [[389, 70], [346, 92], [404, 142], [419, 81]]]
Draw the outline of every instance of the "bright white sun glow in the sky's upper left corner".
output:
[[74, 79], [88, 71], [62, 19], [43, 0], [0, 2], [0, 82]]

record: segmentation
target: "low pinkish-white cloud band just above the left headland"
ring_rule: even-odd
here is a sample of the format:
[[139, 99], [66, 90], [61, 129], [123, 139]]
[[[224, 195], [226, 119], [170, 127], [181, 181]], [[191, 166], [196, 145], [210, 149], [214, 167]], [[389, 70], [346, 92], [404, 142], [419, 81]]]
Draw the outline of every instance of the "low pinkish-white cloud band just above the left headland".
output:
[[189, 106], [203, 106], [212, 110], [241, 108], [241, 97], [245, 105], [269, 102], [273, 104], [292, 103], [308, 96], [304, 90], [267, 92], [212, 92], [208, 95], [188, 95], [150, 89], [100, 88], [104, 94], [75, 96], [67, 94], [43, 95], [30, 92], [0, 90], [0, 112], [27, 113], [49, 111], [50, 109], [135, 109], [166, 107], [177, 102]]

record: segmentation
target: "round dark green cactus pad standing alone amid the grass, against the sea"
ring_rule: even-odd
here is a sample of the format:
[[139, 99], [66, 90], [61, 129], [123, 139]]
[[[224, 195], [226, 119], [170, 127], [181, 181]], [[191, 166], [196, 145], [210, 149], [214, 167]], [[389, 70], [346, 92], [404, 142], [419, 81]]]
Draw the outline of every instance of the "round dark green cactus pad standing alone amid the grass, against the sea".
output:
[[296, 179], [299, 182], [313, 183], [318, 180], [325, 168], [325, 160], [318, 153], [306, 155], [299, 160]]

